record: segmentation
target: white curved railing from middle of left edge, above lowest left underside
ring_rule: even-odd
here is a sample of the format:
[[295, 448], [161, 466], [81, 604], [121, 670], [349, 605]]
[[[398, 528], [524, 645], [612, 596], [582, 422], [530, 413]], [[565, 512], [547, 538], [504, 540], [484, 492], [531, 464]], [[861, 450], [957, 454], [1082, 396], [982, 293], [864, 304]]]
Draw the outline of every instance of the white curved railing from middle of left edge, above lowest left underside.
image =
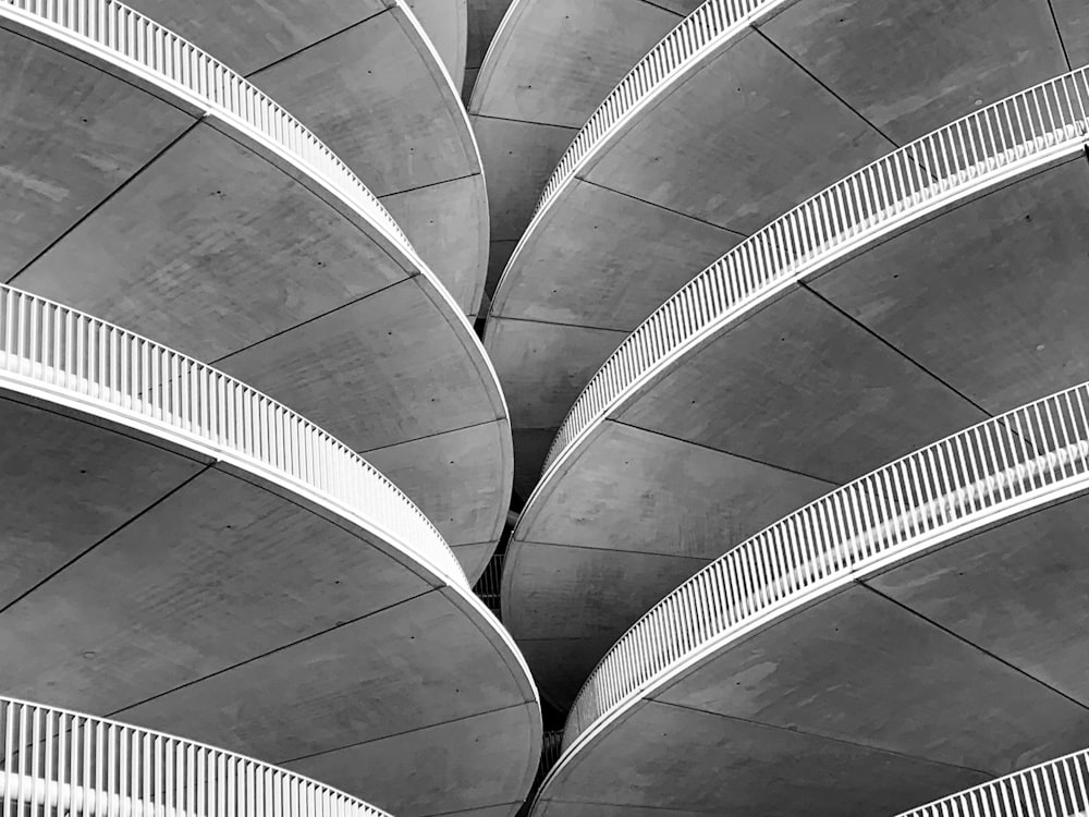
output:
[[107, 407], [286, 477], [468, 590], [441, 534], [393, 483], [309, 420], [192, 357], [0, 286], [0, 383], [12, 382]]

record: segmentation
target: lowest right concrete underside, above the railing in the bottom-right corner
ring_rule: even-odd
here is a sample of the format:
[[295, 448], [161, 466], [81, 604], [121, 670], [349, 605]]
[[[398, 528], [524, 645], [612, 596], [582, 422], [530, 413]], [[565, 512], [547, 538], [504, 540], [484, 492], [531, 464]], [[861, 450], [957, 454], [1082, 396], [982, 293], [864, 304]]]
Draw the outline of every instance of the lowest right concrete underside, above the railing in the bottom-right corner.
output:
[[895, 814], [1076, 749], [1087, 512], [984, 521], [723, 643], [586, 741], [535, 814]]

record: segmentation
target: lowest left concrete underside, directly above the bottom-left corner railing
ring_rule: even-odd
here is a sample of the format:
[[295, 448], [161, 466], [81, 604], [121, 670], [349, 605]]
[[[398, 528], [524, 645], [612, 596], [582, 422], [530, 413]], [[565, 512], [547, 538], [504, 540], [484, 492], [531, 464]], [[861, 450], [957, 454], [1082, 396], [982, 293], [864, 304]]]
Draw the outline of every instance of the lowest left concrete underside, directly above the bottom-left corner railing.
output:
[[9, 694], [297, 761], [394, 814], [514, 813], [539, 711], [467, 590], [230, 451], [24, 400], [0, 399]]

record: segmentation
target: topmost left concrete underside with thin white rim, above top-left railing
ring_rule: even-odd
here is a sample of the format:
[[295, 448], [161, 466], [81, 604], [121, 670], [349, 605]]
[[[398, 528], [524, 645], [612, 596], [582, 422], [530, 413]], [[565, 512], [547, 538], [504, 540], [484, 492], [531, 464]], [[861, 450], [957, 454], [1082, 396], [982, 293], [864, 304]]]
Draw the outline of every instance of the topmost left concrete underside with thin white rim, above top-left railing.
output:
[[[465, 0], [131, 5], [298, 117], [393, 214], [462, 310], [476, 315], [488, 263], [488, 202], [460, 84], [449, 75], [460, 76], [464, 64]], [[449, 74], [436, 48], [454, 60]]]

